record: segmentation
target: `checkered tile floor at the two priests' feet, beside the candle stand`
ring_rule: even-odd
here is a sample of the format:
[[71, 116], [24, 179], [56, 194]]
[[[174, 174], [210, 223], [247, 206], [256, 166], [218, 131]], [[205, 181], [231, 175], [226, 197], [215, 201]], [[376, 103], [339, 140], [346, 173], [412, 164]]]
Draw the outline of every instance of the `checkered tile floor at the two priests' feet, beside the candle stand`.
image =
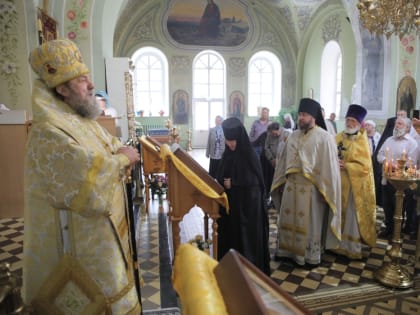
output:
[[[270, 210], [269, 214], [270, 250], [274, 257], [277, 214], [274, 209]], [[378, 217], [381, 216], [381, 211], [378, 211]], [[382, 266], [384, 261], [390, 261], [389, 256], [386, 255], [386, 251], [390, 247], [387, 240], [378, 239], [375, 248], [365, 247], [363, 249], [363, 258], [360, 260], [351, 260], [327, 251], [322, 256], [321, 264], [315, 268], [299, 267], [288, 259], [272, 260], [271, 278], [281, 288], [295, 296], [329, 288], [377, 283], [374, 279], [374, 272]], [[403, 236], [402, 252], [403, 257], [400, 264], [406, 266], [411, 274], [418, 274], [419, 270], [415, 269], [414, 265], [416, 241]]]

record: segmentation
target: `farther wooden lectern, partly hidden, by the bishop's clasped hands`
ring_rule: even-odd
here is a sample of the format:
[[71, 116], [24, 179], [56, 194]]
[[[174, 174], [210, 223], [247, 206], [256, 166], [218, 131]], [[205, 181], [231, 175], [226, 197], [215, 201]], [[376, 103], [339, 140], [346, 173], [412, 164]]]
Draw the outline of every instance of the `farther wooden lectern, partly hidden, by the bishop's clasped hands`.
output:
[[153, 173], [165, 173], [165, 161], [160, 154], [161, 144], [149, 136], [140, 137], [141, 158], [146, 193], [146, 213], [149, 213], [150, 178]]

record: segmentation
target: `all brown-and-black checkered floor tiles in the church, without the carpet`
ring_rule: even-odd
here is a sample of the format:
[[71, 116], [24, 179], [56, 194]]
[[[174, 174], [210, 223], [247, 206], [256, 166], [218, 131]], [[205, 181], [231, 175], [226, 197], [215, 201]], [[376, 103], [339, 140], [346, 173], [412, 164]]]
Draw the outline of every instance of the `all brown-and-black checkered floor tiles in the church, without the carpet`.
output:
[[[137, 213], [138, 255], [144, 281], [142, 287], [143, 308], [152, 310], [177, 307], [178, 301], [171, 285], [172, 250], [171, 237], [168, 235], [170, 227], [167, 204], [164, 201], [163, 206], [160, 206], [158, 201], [152, 201], [149, 214], [145, 214], [140, 209]], [[270, 210], [269, 214], [270, 252], [274, 256], [277, 218], [274, 209]], [[199, 209], [194, 208], [190, 211], [190, 216], [181, 224], [181, 240], [183, 242], [196, 234], [202, 234], [202, 220], [202, 212]], [[11, 269], [18, 276], [22, 274], [22, 245], [23, 219], [1, 219], [0, 263], [9, 263]], [[271, 278], [281, 288], [297, 298], [318, 292], [328, 292], [329, 289], [343, 288], [344, 290], [349, 287], [378, 285], [373, 274], [383, 261], [389, 261], [386, 256], [386, 250], [389, 247], [388, 241], [378, 239], [375, 248], [364, 249], [363, 258], [360, 260], [349, 260], [343, 256], [326, 252], [322, 257], [321, 265], [312, 269], [297, 267], [293, 262], [287, 260], [272, 260]], [[417, 279], [419, 270], [414, 268], [415, 251], [415, 241], [404, 237], [401, 264], [407, 265], [410, 272], [417, 275]], [[419, 296], [409, 296], [404, 301], [398, 302], [398, 307], [406, 305], [404, 307], [418, 310], [416, 307], [420, 304], [419, 301]], [[411, 314], [412, 312], [405, 313]]]

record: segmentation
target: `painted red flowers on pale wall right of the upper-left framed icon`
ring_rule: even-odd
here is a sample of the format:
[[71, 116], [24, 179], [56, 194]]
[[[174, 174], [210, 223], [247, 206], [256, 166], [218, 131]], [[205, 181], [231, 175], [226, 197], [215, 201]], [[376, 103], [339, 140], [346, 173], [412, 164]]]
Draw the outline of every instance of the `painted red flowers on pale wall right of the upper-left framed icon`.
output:
[[87, 39], [88, 11], [91, 0], [72, 0], [66, 12], [66, 37], [75, 42]]

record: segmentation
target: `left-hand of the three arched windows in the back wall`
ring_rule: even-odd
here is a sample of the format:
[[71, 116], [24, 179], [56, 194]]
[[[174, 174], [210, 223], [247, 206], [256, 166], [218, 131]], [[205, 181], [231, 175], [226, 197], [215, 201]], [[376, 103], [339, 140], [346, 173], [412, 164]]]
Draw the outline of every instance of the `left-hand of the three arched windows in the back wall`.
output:
[[132, 61], [134, 111], [137, 116], [169, 115], [168, 60], [157, 48], [143, 47], [137, 50]]

